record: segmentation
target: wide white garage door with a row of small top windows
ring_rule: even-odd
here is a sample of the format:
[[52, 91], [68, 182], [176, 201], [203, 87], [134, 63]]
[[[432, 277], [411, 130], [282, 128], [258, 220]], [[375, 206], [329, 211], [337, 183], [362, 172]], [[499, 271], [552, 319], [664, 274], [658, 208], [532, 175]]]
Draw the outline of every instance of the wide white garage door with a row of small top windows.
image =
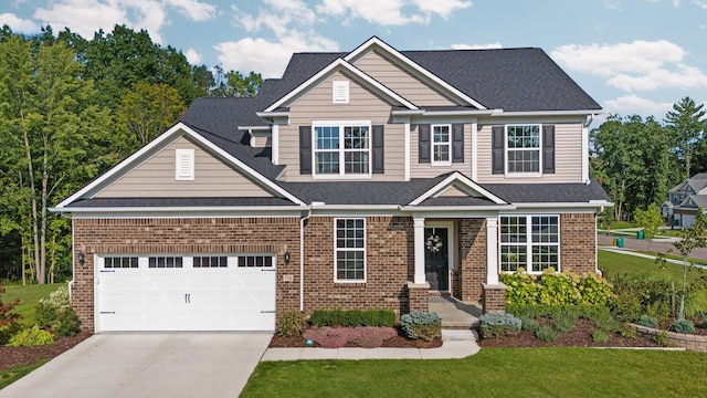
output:
[[275, 258], [110, 255], [96, 261], [97, 331], [274, 331]]

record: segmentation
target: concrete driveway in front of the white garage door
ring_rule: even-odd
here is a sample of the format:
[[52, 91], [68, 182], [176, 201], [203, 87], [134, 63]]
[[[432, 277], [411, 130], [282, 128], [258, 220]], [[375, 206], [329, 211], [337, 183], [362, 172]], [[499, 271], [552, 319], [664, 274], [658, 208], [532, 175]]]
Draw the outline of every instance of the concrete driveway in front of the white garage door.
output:
[[99, 334], [0, 390], [9, 397], [238, 397], [272, 334]]

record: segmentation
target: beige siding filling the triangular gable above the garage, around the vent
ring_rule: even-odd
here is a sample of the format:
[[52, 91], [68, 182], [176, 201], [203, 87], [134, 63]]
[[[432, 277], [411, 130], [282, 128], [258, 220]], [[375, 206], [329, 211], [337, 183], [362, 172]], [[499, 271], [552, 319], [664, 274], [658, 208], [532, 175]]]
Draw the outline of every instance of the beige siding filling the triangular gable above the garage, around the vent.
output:
[[[194, 149], [194, 180], [175, 180], [175, 149]], [[183, 136], [96, 195], [97, 198], [272, 197]]]

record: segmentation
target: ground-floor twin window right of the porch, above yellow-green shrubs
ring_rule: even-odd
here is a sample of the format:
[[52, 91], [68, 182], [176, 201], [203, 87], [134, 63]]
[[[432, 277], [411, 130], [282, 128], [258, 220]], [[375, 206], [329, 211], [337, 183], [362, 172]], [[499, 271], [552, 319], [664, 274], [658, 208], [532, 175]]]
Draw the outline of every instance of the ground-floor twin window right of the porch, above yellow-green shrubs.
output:
[[558, 216], [504, 216], [500, 218], [500, 270], [540, 273], [560, 271]]

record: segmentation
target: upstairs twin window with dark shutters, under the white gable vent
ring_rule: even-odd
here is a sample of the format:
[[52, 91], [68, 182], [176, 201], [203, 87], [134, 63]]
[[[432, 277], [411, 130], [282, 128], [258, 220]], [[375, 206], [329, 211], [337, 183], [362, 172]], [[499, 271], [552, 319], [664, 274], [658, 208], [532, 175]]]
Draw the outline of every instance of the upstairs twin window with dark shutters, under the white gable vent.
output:
[[316, 122], [314, 143], [315, 175], [370, 176], [370, 122]]

